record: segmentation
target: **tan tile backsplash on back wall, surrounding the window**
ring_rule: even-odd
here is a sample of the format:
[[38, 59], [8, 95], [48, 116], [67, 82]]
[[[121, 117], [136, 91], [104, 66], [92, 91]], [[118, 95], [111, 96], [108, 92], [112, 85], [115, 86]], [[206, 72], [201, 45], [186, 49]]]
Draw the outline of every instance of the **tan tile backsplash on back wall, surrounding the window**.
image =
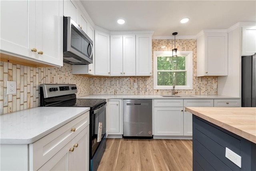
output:
[[[174, 40], [152, 40], [152, 51], [172, 51], [173, 48]], [[196, 77], [196, 39], [176, 40], [176, 48], [182, 51], [193, 51], [193, 89], [177, 90], [178, 94], [217, 95], [217, 88], [213, 87], [213, 84], [217, 84], [217, 77]], [[172, 93], [172, 90], [154, 90], [153, 76], [91, 79], [92, 94], [169, 95]], [[134, 83], [137, 83], [137, 88], [134, 88]]]

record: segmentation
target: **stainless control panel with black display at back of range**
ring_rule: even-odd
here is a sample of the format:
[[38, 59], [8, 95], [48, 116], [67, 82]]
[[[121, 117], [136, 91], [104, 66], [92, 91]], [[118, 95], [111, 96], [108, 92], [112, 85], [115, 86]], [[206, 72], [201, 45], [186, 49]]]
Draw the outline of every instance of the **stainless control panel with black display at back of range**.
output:
[[44, 98], [77, 93], [76, 84], [40, 84]]

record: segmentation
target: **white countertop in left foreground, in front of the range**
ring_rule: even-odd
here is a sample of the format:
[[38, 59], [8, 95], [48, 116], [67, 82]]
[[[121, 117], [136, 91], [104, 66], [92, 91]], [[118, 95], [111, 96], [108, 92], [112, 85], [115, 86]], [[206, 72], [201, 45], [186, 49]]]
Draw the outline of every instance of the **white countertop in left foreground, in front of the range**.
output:
[[90, 107], [34, 107], [1, 115], [0, 143], [34, 143], [89, 110]]

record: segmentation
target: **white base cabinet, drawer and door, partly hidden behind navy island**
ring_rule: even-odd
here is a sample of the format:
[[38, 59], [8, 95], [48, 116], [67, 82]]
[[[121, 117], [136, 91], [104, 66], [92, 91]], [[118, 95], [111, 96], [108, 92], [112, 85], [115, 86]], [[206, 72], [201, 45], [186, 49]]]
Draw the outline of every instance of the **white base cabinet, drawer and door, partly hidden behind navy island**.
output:
[[213, 99], [184, 99], [184, 135], [192, 136], [192, 113], [185, 107], [213, 107]]

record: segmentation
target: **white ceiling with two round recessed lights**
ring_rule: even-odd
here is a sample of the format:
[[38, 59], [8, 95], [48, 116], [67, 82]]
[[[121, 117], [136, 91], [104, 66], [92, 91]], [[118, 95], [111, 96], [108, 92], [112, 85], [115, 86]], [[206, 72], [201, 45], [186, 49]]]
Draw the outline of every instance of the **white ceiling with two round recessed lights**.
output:
[[[154, 30], [153, 36], [196, 35], [203, 29], [227, 29], [256, 22], [256, 0], [81, 0], [96, 26], [109, 31]], [[188, 17], [188, 23], [180, 19]], [[125, 24], [117, 24], [118, 19]]]

